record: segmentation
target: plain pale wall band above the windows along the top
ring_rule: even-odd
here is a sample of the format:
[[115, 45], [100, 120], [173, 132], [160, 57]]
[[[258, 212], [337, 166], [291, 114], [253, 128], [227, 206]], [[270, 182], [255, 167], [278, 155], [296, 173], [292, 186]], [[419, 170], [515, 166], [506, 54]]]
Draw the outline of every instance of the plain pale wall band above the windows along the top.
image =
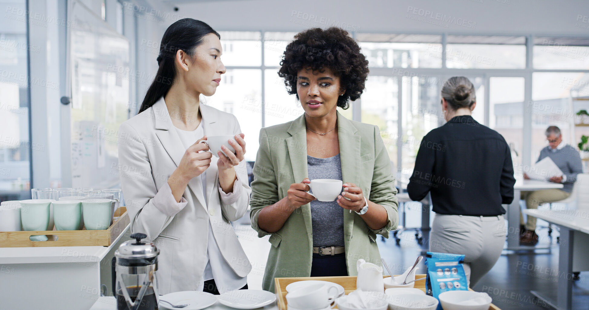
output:
[[[587, 19], [583, 22], [583, 16], [589, 15], [587, 0], [231, 0], [176, 6], [179, 14], [219, 30], [300, 31], [325, 27], [329, 20], [329, 24], [350, 25], [350, 30], [359, 28], [359, 32], [589, 35]], [[415, 14], [412, 8], [418, 9]], [[425, 11], [431, 13], [423, 18]], [[429, 24], [444, 15], [451, 22]], [[467, 25], [476, 25], [459, 25], [464, 19], [470, 21]]]

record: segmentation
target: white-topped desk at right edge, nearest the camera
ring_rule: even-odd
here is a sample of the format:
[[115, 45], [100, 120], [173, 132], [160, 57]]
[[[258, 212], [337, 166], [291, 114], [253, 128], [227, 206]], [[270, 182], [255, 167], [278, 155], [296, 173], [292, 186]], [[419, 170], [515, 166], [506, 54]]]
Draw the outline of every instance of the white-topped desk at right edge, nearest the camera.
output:
[[577, 256], [577, 259], [586, 260], [587, 255], [589, 255], [587, 253], [589, 212], [526, 209], [524, 213], [560, 227], [557, 300], [554, 301], [538, 291], [531, 291], [531, 293], [555, 309], [571, 310], [573, 309], [573, 281], [571, 280], [573, 277], [573, 259]]

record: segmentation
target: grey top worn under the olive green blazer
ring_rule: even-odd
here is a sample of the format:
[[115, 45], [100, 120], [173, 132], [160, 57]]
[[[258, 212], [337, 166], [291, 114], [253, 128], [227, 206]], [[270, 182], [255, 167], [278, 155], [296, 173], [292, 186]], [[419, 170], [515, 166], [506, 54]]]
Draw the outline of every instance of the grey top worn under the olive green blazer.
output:
[[[329, 158], [307, 155], [307, 171], [309, 179], [342, 179], [339, 154]], [[343, 208], [336, 201], [312, 201], [311, 221], [313, 246], [343, 246]]]

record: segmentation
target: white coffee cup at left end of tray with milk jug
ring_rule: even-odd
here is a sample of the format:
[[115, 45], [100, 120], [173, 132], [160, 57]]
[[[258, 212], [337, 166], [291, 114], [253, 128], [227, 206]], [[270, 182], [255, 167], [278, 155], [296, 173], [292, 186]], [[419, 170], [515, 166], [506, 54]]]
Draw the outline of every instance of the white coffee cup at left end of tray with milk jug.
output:
[[337, 294], [336, 286], [314, 284], [286, 294], [286, 302], [290, 308], [295, 309], [325, 309], [335, 301]]

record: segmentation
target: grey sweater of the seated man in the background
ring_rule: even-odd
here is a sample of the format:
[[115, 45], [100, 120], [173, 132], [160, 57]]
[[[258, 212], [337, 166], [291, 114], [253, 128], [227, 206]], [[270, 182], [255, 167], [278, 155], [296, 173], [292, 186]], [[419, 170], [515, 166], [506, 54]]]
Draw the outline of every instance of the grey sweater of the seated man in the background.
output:
[[554, 164], [562, 171], [562, 191], [572, 192], [573, 185], [577, 181], [577, 175], [583, 173], [583, 164], [581, 163], [581, 156], [573, 146], [565, 145], [562, 148], [552, 149], [550, 146], [546, 146], [540, 151], [538, 161], [541, 161], [545, 157], [550, 157]]

